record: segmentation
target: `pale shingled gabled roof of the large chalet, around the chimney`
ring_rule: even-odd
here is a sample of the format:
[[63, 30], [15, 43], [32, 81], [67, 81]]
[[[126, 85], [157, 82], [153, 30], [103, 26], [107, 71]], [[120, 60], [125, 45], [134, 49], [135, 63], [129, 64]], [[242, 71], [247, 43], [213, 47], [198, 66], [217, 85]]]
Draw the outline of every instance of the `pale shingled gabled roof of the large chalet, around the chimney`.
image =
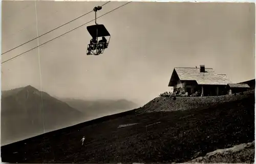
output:
[[[200, 68], [175, 67], [172, 78], [176, 73], [180, 80], [196, 81], [199, 85], [227, 85], [231, 83], [226, 74], [216, 74], [212, 68], [205, 68], [205, 72], [200, 73]], [[172, 78], [168, 86], [173, 86]]]

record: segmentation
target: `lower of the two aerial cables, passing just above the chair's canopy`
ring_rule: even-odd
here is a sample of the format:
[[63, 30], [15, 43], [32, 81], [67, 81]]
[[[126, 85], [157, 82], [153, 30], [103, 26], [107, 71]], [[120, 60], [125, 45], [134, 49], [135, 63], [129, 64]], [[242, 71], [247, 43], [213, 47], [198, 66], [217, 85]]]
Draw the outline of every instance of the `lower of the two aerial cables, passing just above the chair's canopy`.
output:
[[[106, 13], [103, 14], [103, 15], [100, 15], [100, 16], [97, 17], [97, 18], [100, 18], [100, 17], [102, 17], [102, 16], [104, 16], [104, 15], [106, 15], [106, 14], [109, 14], [109, 13], [111, 13], [111, 12], [113, 12], [113, 11], [119, 9], [120, 7], [123, 7], [124, 5], [127, 5], [127, 4], [131, 3], [131, 2], [132, 2], [132, 1], [127, 2], [127, 3], [125, 3], [125, 4], [123, 4], [123, 5], [121, 5], [121, 6], [117, 7], [117, 8], [115, 8], [115, 9], [109, 11], [109, 12], [106, 12]], [[23, 54], [26, 54], [27, 52], [30, 52], [30, 51], [32, 51], [32, 50], [38, 48], [38, 47], [41, 46], [41, 45], [44, 45], [44, 44], [46, 44], [46, 43], [48, 43], [48, 42], [50, 42], [50, 41], [52, 41], [52, 40], [54, 40], [54, 39], [57, 39], [57, 38], [59, 38], [59, 37], [61, 37], [61, 36], [63, 36], [63, 35], [66, 35], [66, 34], [72, 32], [72, 31], [74, 31], [74, 30], [76, 30], [76, 29], [78, 29], [78, 28], [80, 28], [80, 27], [86, 25], [86, 24], [89, 24], [90, 22], [92, 22], [92, 21], [94, 21], [94, 20], [95, 20], [95, 19], [92, 19], [92, 20], [86, 22], [85, 24], [82, 24], [82, 25], [80, 25], [80, 26], [78, 26], [78, 27], [76, 27], [76, 28], [74, 28], [74, 29], [72, 29], [72, 30], [70, 30], [70, 31], [68, 31], [68, 32], [66, 32], [66, 33], [64, 33], [64, 34], [61, 34], [61, 35], [59, 35], [59, 36], [57, 36], [57, 37], [55, 37], [55, 38], [53, 38], [53, 39], [51, 39], [51, 40], [49, 40], [49, 41], [47, 41], [47, 42], [44, 42], [44, 43], [42, 43], [42, 44], [40, 44], [40, 45], [38, 45], [38, 46], [35, 46], [34, 48], [32, 48], [32, 49], [30, 49], [30, 50], [28, 50], [28, 51], [26, 51], [26, 52], [24, 52], [24, 53], [22, 53], [22, 54], [19, 54], [19, 55], [17, 55], [17, 56], [14, 56], [14, 57], [12, 57], [12, 58], [10, 58], [10, 59], [8, 59], [8, 60], [2, 62], [1, 64], [5, 63], [5, 62], [7, 62], [7, 61], [10, 61], [10, 60], [12, 60], [12, 59], [14, 59], [14, 58], [16, 58], [16, 57], [18, 57], [18, 56], [21, 56], [21, 55], [23, 55]]]

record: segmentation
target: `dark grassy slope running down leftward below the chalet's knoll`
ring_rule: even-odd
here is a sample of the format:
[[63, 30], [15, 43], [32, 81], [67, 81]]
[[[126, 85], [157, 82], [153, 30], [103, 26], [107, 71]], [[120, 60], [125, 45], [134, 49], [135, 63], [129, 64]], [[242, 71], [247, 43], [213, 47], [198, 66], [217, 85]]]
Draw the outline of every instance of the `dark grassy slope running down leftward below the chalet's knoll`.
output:
[[190, 110], [139, 113], [154, 111], [154, 104], [147, 104], [3, 146], [2, 161], [185, 162], [254, 140], [254, 92], [233, 99]]

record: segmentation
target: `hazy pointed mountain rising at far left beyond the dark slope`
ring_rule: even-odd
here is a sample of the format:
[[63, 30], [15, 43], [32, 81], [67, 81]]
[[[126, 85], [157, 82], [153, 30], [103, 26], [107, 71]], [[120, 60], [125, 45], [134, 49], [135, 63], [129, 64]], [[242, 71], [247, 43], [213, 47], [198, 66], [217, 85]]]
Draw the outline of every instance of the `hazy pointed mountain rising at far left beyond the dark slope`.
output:
[[32, 86], [3, 91], [1, 144], [41, 134], [44, 128], [48, 132], [75, 125], [83, 119], [82, 112]]

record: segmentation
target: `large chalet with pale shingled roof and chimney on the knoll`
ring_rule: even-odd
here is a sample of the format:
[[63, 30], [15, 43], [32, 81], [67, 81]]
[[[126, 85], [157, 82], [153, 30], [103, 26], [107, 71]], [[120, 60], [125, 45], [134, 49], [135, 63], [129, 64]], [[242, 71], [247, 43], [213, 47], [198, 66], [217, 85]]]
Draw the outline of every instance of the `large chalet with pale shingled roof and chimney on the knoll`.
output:
[[201, 93], [201, 96], [226, 95], [225, 87], [231, 83], [226, 74], [216, 74], [214, 69], [205, 68], [204, 65], [197, 67], [175, 67], [168, 86], [174, 87], [175, 91]]

